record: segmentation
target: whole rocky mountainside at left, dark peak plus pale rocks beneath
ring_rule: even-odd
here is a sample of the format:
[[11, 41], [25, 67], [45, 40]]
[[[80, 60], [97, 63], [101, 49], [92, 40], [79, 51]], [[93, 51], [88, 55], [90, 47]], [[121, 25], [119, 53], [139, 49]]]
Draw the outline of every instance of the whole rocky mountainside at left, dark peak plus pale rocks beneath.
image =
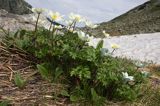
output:
[[23, 0], [0, 0], [0, 37], [4, 35], [1, 28], [14, 32], [20, 28], [33, 29], [32, 14], [28, 14], [31, 7]]

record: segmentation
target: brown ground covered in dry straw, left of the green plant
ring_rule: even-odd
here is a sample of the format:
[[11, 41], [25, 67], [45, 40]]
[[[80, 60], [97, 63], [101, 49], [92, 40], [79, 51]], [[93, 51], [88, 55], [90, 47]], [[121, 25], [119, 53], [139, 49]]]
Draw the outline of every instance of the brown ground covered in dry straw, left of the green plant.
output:
[[[53, 99], [61, 84], [45, 81], [38, 74], [25, 53], [17, 50], [7, 51], [0, 45], [0, 101], [8, 100], [11, 106], [64, 106], [65, 98]], [[14, 83], [14, 75], [20, 73], [27, 81], [24, 88]]]

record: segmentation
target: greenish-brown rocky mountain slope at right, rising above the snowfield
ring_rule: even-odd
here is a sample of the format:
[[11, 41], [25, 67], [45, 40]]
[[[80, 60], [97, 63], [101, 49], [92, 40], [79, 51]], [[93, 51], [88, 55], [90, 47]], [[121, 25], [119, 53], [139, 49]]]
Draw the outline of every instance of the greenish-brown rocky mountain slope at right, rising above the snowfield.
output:
[[160, 32], [160, 0], [148, 1], [109, 22], [101, 23], [96, 29], [84, 30], [95, 36], [103, 36], [103, 30], [112, 36]]

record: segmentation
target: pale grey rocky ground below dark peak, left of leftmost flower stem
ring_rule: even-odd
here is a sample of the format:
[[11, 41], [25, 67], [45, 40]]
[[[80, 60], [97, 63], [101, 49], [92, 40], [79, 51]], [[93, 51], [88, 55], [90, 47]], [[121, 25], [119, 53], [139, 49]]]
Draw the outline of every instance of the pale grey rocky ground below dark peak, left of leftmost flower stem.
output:
[[0, 27], [14, 32], [18, 29], [33, 29], [32, 14], [15, 15], [5, 10], [0, 10]]

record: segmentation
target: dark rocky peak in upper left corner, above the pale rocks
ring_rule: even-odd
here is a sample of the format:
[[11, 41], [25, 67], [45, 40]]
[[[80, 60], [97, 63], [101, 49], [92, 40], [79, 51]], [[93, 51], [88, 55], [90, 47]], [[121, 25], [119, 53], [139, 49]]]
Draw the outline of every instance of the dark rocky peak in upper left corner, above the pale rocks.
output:
[[28, 9], [32, 6], [24, 0], [0, 0], [0, 9], [5, 9], [9, 13], [28, 14], [31, 11]]

